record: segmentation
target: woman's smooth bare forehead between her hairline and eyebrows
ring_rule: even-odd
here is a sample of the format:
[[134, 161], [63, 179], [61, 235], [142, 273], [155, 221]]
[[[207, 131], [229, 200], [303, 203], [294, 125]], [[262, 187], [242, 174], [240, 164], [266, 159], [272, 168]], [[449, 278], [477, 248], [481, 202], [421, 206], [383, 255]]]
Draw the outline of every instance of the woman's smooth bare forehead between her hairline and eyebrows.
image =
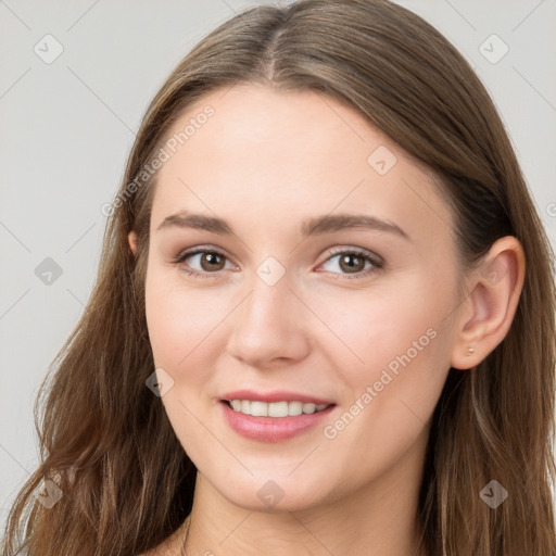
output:
[[451, 211], [422, 166], [362, 114], [320, 93], [218, 89], [180, 115], [168, 141], [153, 227], [179, 210], [233, 222], [241, 207], [244, 218], [276, 229], [357, 211], [429, 237], [451, 231]]

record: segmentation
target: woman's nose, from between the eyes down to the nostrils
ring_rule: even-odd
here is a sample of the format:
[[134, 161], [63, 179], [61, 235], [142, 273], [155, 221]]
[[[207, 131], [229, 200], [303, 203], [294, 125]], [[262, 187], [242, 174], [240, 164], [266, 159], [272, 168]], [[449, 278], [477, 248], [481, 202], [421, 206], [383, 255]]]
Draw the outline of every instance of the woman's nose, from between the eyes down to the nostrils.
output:
[[269, 286], [254, 276], [252, 290], [233, 312], [228, 352], [244, 365], [269, 368], [296, 363], [311, 349], [311, 319], [288, 275]]

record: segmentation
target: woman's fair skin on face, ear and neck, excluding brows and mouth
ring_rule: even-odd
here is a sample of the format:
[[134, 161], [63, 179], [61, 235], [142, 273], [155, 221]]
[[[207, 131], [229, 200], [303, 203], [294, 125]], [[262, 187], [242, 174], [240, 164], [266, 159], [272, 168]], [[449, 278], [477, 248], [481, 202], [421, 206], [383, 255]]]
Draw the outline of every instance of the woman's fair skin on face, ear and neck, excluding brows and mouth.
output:
[[[450, 367], [473, 367], [507, 333], [522, 249], [503, 238], [485, 267], [462, 277], [453, 215], [430, 177], [349, 106], [244, 84], [205, 96], [169, 135], [206, 104], [214, 116], [160, 169], [146, 282], [155, 365], [174, 380], [162, 402], [199, 470], [187, 554], [425, 555], [416, 515], [431, 415]], [[386, 175], [367, 162], [380, 146], [397, 161]], [[157, 231], [182, 210], [224, 218], [235, 235]], [[303, 239], [305, 218], [330, 213], [374, 215], [410, 239], [369, 229]], [[173, 262], [197, 245], [225, 258]], [[134, 232], [129, 247], [136, 253]], [[386, 266], [350, 274], [333, 248], [367, 250]], [[256, 274], [268, 256], [286, 270], [274, 286]], [[367, 386], [430, 329], [435, 337], [327, 438], [324, 426], [357, 400], [361, 408]], [[323, 427], [265, 443], [222, 417], [219, 399], [240, 388], [337, 406]], [[274, 507], [257, 496], [269, 480], [283, 492]], [[179, 554], [182, 541], [180, 529], [156, 554]]]

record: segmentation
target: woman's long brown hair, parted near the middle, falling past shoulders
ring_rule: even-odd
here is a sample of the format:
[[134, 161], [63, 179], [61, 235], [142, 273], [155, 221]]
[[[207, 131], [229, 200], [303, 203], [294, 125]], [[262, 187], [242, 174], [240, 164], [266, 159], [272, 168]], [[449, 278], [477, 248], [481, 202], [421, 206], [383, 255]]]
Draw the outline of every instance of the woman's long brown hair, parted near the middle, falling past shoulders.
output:
[[[193, 48], [155, 96], [110, 211], [93, 292], [41, 384], [41, 464], [12, 507], [2, 554], [136, 555], [190, 513], [197, 470], [146, 387], [154, 370], [144, 274], [156, 173], [144, 168], [185, 110], [240, 83], [346, 103], [428, 167], [456, 216], [464, 268], [503, 236], [521, 242], [527, 273], [506, 338], [477, 367], [450, 369], [419, 517], [432, 556], [554, 556], [552, 250], [484, 87], [439, 31], [386, 0], [245, 10]], [[495, 509], [480, 497], [491, 480], [508, 492]], [[62, 493], [50, 508], [35, 495], [45, 481]]]

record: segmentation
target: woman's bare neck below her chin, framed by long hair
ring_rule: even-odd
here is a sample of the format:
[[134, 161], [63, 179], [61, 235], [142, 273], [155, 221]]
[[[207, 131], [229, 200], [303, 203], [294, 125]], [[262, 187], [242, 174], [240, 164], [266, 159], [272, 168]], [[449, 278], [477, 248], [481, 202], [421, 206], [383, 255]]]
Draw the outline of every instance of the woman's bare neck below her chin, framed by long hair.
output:
[[417, 517], [421, 440], [357, 492], [303, 509], [241, 507], [198, 472], [185, 554], [427, 556]]

